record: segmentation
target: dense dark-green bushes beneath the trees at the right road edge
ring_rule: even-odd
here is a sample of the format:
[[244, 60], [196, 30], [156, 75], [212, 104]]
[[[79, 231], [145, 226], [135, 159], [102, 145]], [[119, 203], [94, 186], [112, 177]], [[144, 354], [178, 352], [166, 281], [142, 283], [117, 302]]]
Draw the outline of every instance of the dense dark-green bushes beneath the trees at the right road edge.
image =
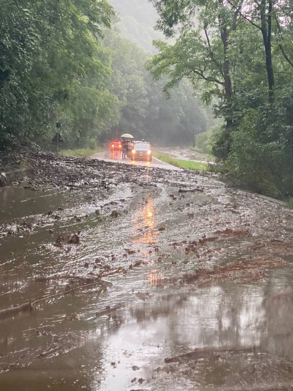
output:
[[286, 96], [274, 106], [245, 111], [224, 163], [233, 182], [271, 197], [293, 194], [292, 107], [292, 98]]

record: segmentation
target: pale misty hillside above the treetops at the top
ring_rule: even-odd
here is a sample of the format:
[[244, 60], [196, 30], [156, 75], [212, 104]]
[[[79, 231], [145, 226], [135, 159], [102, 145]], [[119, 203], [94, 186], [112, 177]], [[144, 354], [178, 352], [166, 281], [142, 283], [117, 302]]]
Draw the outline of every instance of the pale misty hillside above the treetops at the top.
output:
[[139, 44], [148, 52], [154, 52], [152, 41], [162, 38], [154, 30], [157, 13], [148, 0], [110, 0], [110, 4], [118, 13], [121, 34]]

